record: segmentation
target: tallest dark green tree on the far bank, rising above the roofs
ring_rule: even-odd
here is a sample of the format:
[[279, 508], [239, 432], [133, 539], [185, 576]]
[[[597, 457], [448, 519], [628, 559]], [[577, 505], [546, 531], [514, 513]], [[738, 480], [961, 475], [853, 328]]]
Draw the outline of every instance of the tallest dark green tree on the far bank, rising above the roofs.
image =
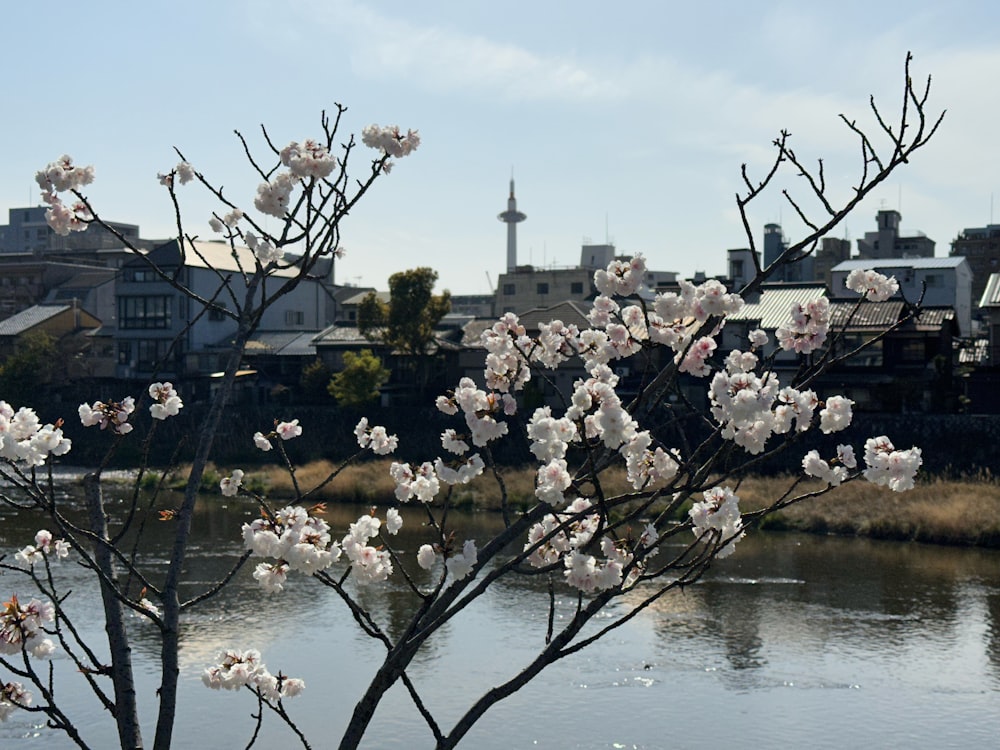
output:
[[417, 387], [427, 385], [430, 359], [434, 356], [434, 328], [451, 310], [451, 293], [434, 294], [438, 273], [420, 267], [389, 277], [389, 302], [374, 292], [358, 307], [358, 330], [369, 341], [378, 341], [410, 357]]

